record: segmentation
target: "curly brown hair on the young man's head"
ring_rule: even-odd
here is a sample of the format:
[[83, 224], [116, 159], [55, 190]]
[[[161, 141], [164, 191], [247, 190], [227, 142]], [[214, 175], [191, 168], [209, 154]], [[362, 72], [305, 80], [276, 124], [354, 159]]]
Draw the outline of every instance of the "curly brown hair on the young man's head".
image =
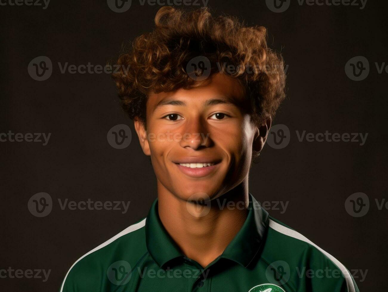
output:
[[[189, 89], [209, 81], [198, 81], [187, 72], [189, 62], [201, 56], [210, 62], [210, 76], [221, 66], [235, 68], [223, 73], [239, 80], [253, 120], [263, 123], [284, 99], [286, 81], [282, 57], [267, 47], [266, 39], [263, 26], [247, 27], [236, 17], [213, 17], [207, 8], [187, 12], [162, 7], [154, 30], [137, 37], [118, 58], [120, 69], [112, 75], [121, 107], [131, 119], [145, 123], [149, 93]], [[195, 73], [201, 75], [203, 70], [197, 68]]]

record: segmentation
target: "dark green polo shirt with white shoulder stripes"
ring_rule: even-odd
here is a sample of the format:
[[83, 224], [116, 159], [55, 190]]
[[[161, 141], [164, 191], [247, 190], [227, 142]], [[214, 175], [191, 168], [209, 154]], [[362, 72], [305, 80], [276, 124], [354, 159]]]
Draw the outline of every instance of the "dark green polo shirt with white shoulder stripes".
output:
[[268, 216], [252, 195], [241, 230], [205, 268], [185, 257], [158, 216], [129, 226], [78, 259], [60, 292], [359, 292], [333, 256]]

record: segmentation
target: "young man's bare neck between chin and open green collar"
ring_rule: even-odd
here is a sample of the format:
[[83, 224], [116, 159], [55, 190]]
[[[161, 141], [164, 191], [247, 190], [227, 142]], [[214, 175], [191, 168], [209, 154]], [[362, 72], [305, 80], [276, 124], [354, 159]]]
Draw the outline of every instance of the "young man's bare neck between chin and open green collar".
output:
[[158, 212], [163, 226], [183, 254], [203, 267], [222, 254], [244, 224], [248, 180], [208, 206], [206, 215], [193, 216], [187, 201], [171, 194], [158, 181]]

